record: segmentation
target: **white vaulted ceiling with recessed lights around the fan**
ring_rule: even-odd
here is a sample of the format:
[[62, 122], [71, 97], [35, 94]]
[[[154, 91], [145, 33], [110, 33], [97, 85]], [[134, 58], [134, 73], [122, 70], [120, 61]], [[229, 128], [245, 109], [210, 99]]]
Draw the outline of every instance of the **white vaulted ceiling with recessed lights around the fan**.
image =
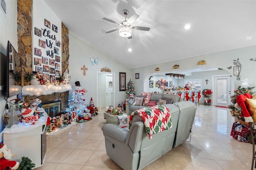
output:
[[[128, 68], [256, 45], [254, 0], [44, 0], [70, 32]], [[132, 39], [108, 22], [139, 15]], [[184, 26], [190, 24], [186, 30]], [[132, 51], [128, 51], [128, 49]], [[97, 57], [97, 56], [90, 56]]]

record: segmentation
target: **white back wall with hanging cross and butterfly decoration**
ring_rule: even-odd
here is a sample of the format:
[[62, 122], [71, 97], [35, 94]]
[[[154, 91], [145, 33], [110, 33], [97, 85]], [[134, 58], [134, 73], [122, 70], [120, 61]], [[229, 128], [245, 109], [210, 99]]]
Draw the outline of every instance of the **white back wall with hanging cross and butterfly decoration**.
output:
[[[107, 67], [111, 69], [112, 73], [115, 73], [116, 82], [114, 93], [118, 93], [118, 103], [122, 103], [125, 100], [125, 91], [119, 91], [119, 72], [126, 73], [126, 83], [131, 78], [131, 70], [124, 65], [118, 63], [107, 54], [98, 50], [86, 40], [77, 38], [76, 34], [69, 32], [69, 75], [71, 76], [70, 83], [74, 88], [76, 81], [80, 81], [80, 84], [88, 92], [85, 93], [86, 104], [90, 103], [92, 97], [94, 105], [96, 106], [96, 72], [102, 68]], [[98, 58], [98, 65], [92, 65], [90, 58]], [[120, 56], [121, 57], [121, 56]], [[86, 75], [84, 76], [81, 67], [86, 66]], [[126, 84], [127, 85], [127, 84]], [[103, 97], [103, 96], [102, 96]]]

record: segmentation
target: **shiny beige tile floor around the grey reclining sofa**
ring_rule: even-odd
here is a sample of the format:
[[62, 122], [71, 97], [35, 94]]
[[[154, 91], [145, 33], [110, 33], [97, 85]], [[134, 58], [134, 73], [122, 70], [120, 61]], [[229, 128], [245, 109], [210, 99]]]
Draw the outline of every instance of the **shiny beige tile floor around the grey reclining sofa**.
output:
[[[55, 136], [47, 136], [44, 166], [36, 170], [121, 169], [106, 154], [101, 131], [105, 123], [100, 113], [92, 121], [76, 123]], [[252, 144], [230, 136], [233, 123], [229, 109], [200, 105], [191, 141], [183, 142], [143, 170], [249, 170]]]

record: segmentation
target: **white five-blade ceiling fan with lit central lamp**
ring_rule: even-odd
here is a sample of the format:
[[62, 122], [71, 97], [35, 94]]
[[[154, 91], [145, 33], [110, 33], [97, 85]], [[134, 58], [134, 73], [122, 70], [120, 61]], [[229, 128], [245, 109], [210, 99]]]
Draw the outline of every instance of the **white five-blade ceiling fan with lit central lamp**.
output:
[[131, 26], [131, 24], [139, 17], [139, 15], [134, 13], [128, 19], [128, 21], [126, 21], [126, 16], [128, 14], [129, 14], [129, 11], [128, 10], [124, 10], [125, 20], [123, 22], [121, 22], [121, 23], [118, 23], [116, 21], [110, 20], [108, 18], [102, 18], [103, 20], [112, 22], [114, 24], [118, 24], [120, 26], [119, 28], [116, 28], [116, 29], [113, 29], [113, 30], [110, 30], [110, 31], [102, 30], [102, 32], [107, 34], [107, 33], [119, 30], [119, 35], [121, 37], [128, 37], [128, 39], [131, 39], [132, 38], [132, 29], [134, 29], [134, 30], [142, 30], [142, 31], [149, 31], [150, 28], [148, 28], [148, 27]]

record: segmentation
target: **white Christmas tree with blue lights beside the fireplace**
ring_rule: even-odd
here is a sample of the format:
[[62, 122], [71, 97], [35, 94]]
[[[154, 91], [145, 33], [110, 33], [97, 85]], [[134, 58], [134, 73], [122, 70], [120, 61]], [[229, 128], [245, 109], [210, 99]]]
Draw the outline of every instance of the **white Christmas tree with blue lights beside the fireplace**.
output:
[[83, 116], [88, 111], [84, 99], [84, 93], [86, 92], [86, 89], [72, 91], [72, 99], [68, 100], [70, 112], [74, 109], [78, 116]]

